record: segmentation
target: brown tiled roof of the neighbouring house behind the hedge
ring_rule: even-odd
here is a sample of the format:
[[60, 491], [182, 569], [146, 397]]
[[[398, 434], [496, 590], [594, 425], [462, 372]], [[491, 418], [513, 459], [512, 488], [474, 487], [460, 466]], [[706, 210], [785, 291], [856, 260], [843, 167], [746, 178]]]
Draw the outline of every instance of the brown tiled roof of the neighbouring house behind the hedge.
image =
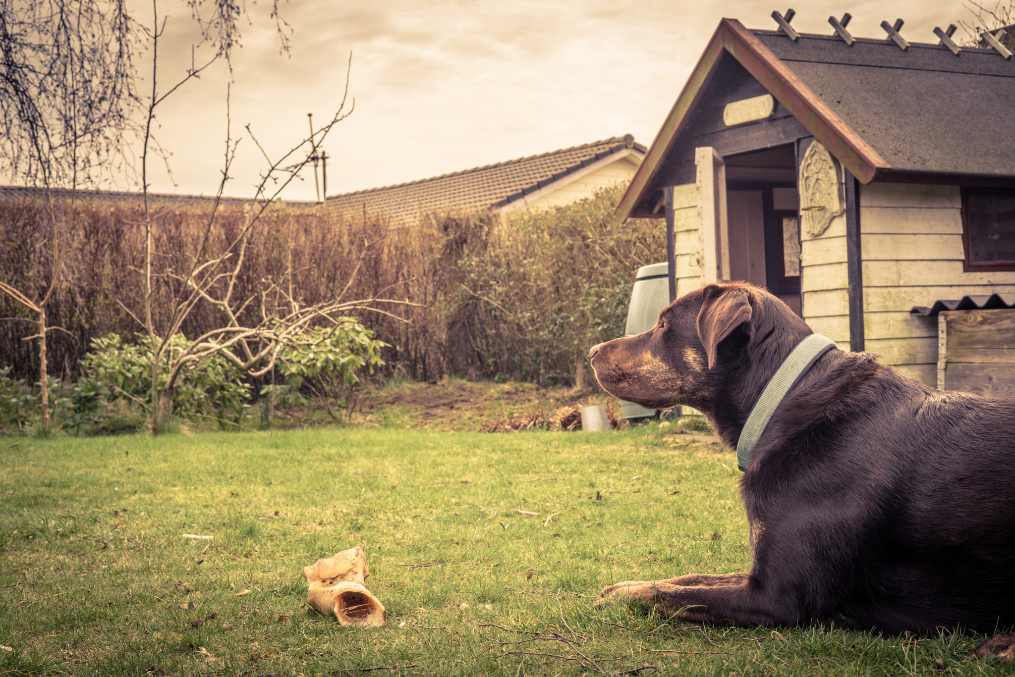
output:
[[610, 162], [632, 151], [640, 156], [646, 147], [629, 134], [611, 137], [430, 179], [329, 196], [328, 208], [351, 215], [365, 208], [370, 214], [386, 214], [403, 223], [414, 222], [420, 212], [429, 210], [502, 209], [597, 162]]

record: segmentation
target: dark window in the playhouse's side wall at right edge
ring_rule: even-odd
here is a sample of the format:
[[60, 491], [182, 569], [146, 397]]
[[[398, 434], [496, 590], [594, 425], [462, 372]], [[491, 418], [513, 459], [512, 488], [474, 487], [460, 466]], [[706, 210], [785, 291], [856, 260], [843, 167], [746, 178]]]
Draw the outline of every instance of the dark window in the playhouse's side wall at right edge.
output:
[[1015, 270], [1015, 190], [962, 190], [965, 270]]

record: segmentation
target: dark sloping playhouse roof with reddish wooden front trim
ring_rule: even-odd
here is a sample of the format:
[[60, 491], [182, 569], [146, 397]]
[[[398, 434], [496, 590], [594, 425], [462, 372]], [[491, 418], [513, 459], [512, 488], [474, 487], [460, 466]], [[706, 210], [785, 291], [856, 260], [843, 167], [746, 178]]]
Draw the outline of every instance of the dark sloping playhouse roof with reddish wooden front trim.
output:
[[[670, 149], [726, 55], [736, 59], [862, 183], [1015, 178], [1015, 59], [994, 49], [749, 30], [723, 19], [617, 206], [651, 213]], [[759, 123], [760, 124], [760, 123]]]

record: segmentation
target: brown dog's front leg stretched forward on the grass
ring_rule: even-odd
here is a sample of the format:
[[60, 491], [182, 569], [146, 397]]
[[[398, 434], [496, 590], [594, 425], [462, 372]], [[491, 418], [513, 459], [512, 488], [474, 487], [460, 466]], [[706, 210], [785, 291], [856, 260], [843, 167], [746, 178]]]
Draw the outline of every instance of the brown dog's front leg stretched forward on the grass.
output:
[[[692, 585], [687, 585], [692, 584]], [[603, 590], [597, 605], [625, 601], [665, 616], [717, 625], [796, 625], [802, 618], [790, 599], [752, 586], [748, 574], [685, 576], [669, 581], [627, 581]]]

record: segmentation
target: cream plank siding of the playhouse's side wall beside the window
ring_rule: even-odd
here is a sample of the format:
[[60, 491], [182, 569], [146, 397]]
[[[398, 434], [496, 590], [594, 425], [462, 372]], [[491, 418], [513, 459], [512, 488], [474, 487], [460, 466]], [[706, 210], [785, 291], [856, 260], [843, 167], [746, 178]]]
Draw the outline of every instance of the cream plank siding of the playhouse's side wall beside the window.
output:
[[[1015, 273], [963, 272], [957, 186], [861, 186], [860, 224], [867, 350], [907, 376], [936, 386], [937, 322], [909, 315], [909, 309], [931, 306], [939, 298], [1015, 291]], [[821, 279], [834, 278], [829, 271]], [[815, 284], [829, 286], [827, 281]], [[842, 300], [844, 294], [826, 302]], [[840, 335], [841, 326], [828, 325], [828, 330]]]

